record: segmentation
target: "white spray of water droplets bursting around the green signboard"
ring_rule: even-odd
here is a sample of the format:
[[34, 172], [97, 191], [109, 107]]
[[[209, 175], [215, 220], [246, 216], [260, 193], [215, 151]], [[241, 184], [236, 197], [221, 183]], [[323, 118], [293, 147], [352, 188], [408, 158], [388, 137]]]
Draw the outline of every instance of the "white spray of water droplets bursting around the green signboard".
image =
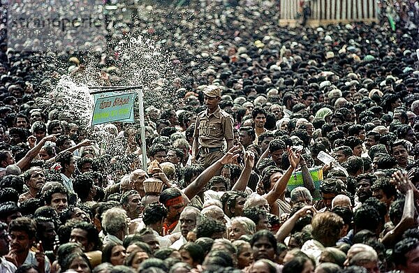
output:
[[[115, 75], [110, 80], [113, 85], [140, 85], [144, 94], [145, 108], [149, 105], [159, 107], [170, 100], [172, 94], [166, 87], [175, 78], [174, 69], [168, 54], [146, 38], [122, 40], [115, 48], [117, 65]], [[94, 98], [89, 94], [89, 86], [102, 86], [101, 68], [94, 61], [87, 61], [81, 73], [62, 75], [58, 84], [47, 95], [55, 106], [71, 115], [71, 119], [84, 126], [89, 135], [98, 141], [100, 147], [113, 147], [116, 150], [122, 143], [105, 130], [105, 126], [90, 126]], [[116, 83], [116, 84], [115, 84]], [[138, 121], [138, 102], [134, 106], [135, 121]]]

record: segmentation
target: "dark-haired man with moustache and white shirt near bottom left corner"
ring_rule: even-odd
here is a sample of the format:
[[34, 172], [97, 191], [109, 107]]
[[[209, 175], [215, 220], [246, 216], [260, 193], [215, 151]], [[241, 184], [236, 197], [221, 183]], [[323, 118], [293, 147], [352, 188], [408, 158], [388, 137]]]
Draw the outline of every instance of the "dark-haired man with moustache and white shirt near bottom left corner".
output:
[[40, 273], [50, 273], [50, 260], [43, 253], [43, 246], [37, 244], [36, 252], [31, 251], [35, 242], [36, 223], [27, 217], [20, 217], [10, 222], [10, 255], [15, 258], [17, 266], [36, 265]]

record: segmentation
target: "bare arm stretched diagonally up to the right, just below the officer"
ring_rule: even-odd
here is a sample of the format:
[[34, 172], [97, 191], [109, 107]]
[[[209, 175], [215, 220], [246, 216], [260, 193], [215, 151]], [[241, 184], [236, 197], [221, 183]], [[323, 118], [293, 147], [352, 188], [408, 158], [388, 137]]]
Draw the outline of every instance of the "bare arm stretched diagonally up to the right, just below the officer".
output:
[[186, 187], [186, 189], [184, 190], [185, 195], [189, 199], [192, 199], [193, 196], [197, 195], [210, 181], [210, 179], [214, 177], [214, 175], [216, 175], [216, 172], [223, 168], [223, 165], [233, 162], [235, 158], [239, 156], [240, 151], [240, 146], [233, 146], [223, 157], [212, 163], [212, 165], [206, 168], [203, 171], [203, 173], [201, 173], [195, 179], [195, 181], [193, 181], [191, 184], [189, 184], [189, 186]]

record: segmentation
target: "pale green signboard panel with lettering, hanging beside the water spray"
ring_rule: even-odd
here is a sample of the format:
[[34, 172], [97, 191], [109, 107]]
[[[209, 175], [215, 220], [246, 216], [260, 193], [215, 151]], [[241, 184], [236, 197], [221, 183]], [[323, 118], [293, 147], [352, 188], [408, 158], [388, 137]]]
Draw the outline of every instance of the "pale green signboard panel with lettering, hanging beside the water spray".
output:
[[134, 122], [135, 92], [94, 96], [94, 110], [91, 125], [112, 121]]

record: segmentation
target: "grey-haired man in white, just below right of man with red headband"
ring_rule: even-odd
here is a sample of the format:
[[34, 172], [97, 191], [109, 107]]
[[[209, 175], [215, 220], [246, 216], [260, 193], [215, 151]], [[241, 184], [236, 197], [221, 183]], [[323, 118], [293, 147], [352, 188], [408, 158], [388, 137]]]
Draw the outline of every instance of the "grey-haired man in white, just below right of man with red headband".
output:
[[174, 242], [170, 248], [178, 250], [181, 246], [186, 244], [186, 242], [188, 242], [186, 240], [186, 236], [188, 235], [189, 231], [192, 231], [196, 225], [200, 223], [201, 219], [202, 214], [200, 213], [199, 209], [196, 207], [185, 207], [179, 217], [180, 233], [182, 236], [176, 242]]

